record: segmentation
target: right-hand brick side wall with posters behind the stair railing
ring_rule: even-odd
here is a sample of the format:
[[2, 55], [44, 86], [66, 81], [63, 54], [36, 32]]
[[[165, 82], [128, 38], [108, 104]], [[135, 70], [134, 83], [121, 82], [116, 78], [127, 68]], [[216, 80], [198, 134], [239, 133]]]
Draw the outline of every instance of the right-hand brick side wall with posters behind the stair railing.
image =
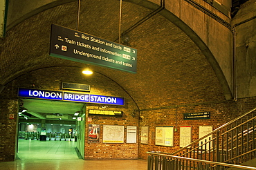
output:
[[[242, 115], [256, 106], [256, 98], [239, 99], [236, 102], [223, 102], [212, 104], [194, 104], [194, 106], [177, 105], [172, 108], [156, 108], [149, 111], [140, 111], [140, 126], [149, 126], [149, 144], [140, 144], [138, 158], [147, 160], [147, 151], [161, 151], [172, 153], [179, 147], [180, 126], [192, 126], [192, 141], [199, 138], [199, 126], [219, 126], [229, 122], [235, 117]], [[209, 120], [184, 120], [183, 113], [199, 113], [209, 111]], [[177, 119], [176, 119], [177, 116]], [[177, 120], [177, 121], [176, 121]], [[174, 126], [174, 147], [163, 147], [155, 145], [156, 126]], [[140, 129], [141, 130], [141, 129]]]

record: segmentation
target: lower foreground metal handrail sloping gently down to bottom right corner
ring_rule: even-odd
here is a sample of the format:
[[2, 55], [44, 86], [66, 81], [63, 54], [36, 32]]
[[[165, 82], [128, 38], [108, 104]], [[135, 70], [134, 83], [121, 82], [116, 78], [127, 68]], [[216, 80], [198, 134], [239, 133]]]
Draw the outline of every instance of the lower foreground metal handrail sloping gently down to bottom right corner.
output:
[[239, 165], [239, 164], [227, 164], [227, 163], [223, 163], [223, 162], [212, 162], [209, 160], [198, 160], [198, 159], [194, 159], [194, 158], [185, 158], [185, 157], [180, 157], [180, 156], [175, 156], [175, 155], [167, 155], [167, 154], [163, 154], [163, 153], [152, 153], [152, 152], [147, 152], [147, 153], [149, 153], [151, 155], [160, 155], [160, 156], [165, 156], [168, 158], [189, 160], [189, 161], [194, 161], [194, 162], [202, 162], [202, 163], [207, 163], [207, 164], [220, 165], [220, 166], [224, 166], [224, 167], [234, 167], [234, 168], [240, 168], [240, 169], [255, 169], [256, 170], [256, 167], [249, 167], [249, 166], [244, 166], [244, 165]]

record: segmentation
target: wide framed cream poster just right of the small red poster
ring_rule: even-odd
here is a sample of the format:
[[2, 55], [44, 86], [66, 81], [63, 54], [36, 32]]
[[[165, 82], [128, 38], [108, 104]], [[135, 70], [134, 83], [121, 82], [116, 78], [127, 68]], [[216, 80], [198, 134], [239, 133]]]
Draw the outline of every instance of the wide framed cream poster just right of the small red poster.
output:
[[124, 143], [125, 126], [103, 125], [103, 143], [120, 144]]

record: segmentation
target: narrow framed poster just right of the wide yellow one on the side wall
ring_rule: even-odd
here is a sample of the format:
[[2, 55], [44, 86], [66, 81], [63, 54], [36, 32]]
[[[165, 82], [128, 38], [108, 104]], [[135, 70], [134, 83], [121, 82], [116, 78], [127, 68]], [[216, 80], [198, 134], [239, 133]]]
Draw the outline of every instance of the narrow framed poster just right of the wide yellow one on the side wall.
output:
[[180, 147], [185, 147], [192, 141], [192, 126], [180, 126]]

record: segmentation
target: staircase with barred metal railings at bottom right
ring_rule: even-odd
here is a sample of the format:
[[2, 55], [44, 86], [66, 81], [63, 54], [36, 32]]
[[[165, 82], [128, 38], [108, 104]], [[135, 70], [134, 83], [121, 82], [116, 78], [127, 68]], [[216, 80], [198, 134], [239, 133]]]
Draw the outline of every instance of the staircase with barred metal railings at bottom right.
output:
[[256, 108], [174, 153], [148, 153], [148, 170], [256, 169], [240, 165], [256, 158]]

